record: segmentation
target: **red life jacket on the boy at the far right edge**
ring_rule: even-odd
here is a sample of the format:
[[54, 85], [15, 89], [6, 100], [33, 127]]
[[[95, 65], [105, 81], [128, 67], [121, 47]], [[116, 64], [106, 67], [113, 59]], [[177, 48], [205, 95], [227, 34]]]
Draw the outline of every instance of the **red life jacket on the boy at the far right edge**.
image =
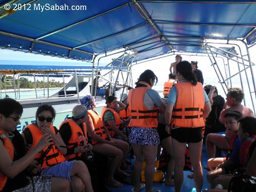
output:
[[242, 145], [240, 146], [240, 150], [239, 150], [239, 161], [240, 161], [240, 165], [242, 166], [246, 166], [248, 161], [249, 161], [249, 149], [250, 146], [252, 145], [252, 143], [254, 143], [256, 140], [256, 135], [251, 135], [250, 137], [248, 137], [247, 139], [244, 140], [244, 142], [242, 143]]

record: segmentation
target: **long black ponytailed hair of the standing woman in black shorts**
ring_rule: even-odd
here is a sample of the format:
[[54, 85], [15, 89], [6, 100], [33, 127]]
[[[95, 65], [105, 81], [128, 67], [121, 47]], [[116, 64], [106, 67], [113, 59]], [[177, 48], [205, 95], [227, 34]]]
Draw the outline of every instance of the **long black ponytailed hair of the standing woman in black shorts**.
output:
[[190, 62], [183, 60], [176, 65], [176, 74], [180, 73], [185, 79], [189, 80], [192, 85], [197, 85], [197, 77], [192, 71]]

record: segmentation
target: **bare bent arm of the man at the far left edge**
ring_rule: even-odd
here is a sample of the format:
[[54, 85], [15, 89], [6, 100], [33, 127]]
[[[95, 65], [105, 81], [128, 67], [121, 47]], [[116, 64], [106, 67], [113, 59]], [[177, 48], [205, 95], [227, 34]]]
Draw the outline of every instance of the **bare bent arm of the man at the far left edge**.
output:
[[13, 161], [11, 156], [4, 147], [0, 140], [0, 171], [8, 178], [14, 178], [16, 175], [25, 170], [29, 166], [34, 157], [42, 151], [46, 146], [52, 143], [52, 137], [49, 134], [45, 134], [39, 143], [32, 148], [26, 155], [22, 156], [19, 160]]

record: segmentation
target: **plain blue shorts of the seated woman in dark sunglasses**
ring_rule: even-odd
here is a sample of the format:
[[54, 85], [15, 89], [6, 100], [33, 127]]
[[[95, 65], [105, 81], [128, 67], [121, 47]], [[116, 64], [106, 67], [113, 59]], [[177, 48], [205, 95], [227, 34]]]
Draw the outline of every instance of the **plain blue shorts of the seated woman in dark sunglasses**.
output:
[[41, 175], [52, 175], [55, 177], [66, 178], [71, 181], [71, 170], [73, 167], [74, 161], [64, 161], [54, 166], [49, 166], [42, 170]]

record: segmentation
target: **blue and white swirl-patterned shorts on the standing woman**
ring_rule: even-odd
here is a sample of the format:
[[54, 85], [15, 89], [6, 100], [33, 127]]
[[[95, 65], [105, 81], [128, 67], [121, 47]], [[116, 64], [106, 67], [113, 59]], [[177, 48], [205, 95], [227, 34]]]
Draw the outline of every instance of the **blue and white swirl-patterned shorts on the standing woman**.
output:
[[129, 127], [129, 143], [155, 146], [160, 144], [156, 128]]

